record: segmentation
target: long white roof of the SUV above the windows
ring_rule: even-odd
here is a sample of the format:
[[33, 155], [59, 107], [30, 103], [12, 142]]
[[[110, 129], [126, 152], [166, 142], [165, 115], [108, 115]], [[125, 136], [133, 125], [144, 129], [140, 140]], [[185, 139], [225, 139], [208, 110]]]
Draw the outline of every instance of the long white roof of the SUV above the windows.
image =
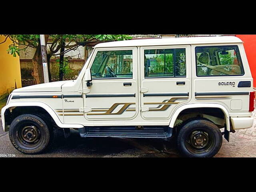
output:
[[212, 36], [212, 37], [184, 37], [184, 38], [156, 38], [125, 40], [107, 43], [99, 43], [95, 48], [101, 47], [132, 47], [132, 46], [158, 46], [158, 45], [191, 45], [191, 44], [212, 44], [212, 43], [242, 43], [242, 40], [235, 36]]

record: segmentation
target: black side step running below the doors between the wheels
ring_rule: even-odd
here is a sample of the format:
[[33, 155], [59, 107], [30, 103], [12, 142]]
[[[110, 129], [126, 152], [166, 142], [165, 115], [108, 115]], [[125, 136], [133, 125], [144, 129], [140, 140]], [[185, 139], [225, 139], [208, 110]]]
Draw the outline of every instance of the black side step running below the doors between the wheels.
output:
[[172, 136], [170, 127], [84, 127], [80, 128], [81, 137], [129, 137], [129, 138], [168, 138]]

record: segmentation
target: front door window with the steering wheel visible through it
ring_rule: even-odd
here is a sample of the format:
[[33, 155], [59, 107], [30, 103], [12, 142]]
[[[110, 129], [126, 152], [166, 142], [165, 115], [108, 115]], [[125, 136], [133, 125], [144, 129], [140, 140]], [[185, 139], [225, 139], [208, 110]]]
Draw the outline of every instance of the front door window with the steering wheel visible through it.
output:
[[92, 79], [132, 78], [132, 50], [98, 51], [91, 71]]

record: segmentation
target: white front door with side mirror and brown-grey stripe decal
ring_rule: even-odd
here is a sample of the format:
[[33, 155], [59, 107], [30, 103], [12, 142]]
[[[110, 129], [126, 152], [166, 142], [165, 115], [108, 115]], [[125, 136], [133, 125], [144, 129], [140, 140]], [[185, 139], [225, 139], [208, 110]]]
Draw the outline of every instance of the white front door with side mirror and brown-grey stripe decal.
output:
[[89, 68], [92, 85], [84, 90], [87, 120], [130, 120], [138, 114], [137, 48], [98, 48]]

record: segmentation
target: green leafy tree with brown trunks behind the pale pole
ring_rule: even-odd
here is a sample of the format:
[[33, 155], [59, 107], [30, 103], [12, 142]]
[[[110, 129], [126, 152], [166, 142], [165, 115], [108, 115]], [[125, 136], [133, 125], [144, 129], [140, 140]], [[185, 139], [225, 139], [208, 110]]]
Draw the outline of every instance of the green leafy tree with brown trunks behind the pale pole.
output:
[[[6, 42], [7, 38], [12, 41], [9, 45], [8, 54], [12, 54], [16, 57], [16, 54], [20, 55], [21, 50], [25, 50], [28, 47], [36, 48], [36, 52], [32, 59], [33, 62], [33, 73], [32, 76], [35, 78], [36, 83], [42, 83], [43, 80], [43, 70], [42, 70], [42, 56], [41, 56], [41, 45], [40, 45], [40, 35], [4, 35], [6, 38], [0, 44]], [[71, 50], [76, 50], [81, 46], [78, 42], [81, 41], [116, 41], [116, 40], [128, 40], [132, 37], [129, 35], [88, 35], [88, 34], [54, 34], [46, 35], [46, 47], [47, 52], [47, 62], [48, 62], [48, 73], [49, 81], [51, 82], [50, 74], [50, 58], [52, 56], [60, 56], [60, 74], [59, 80], [63, 80], [63, 59], [64, 54], [70, 52]], [[52, 42], [48, 42], [48, 39], [52, 39]], [[23, 49], [19, 49], [19, 45], [25, 46]]]

